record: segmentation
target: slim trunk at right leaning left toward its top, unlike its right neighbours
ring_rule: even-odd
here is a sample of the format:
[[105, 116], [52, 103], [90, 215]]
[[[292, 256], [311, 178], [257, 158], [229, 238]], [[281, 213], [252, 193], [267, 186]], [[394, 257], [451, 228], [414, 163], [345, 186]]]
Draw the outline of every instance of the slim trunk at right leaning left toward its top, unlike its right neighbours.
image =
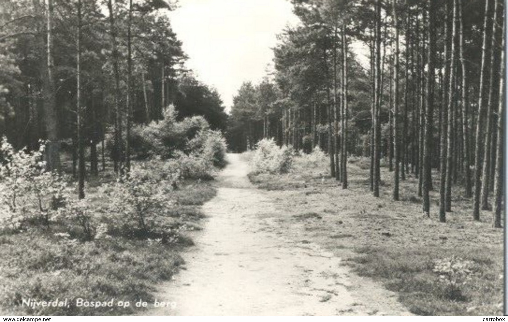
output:
[[464, 17], [462, 15], [462, 2], [459, 1], [459, 22], [460, 22], [460, 63], [462, 67], [462, 133], [464, 141], [464, 163], [465, 163], [465, 197], [471, 198], [471, 152], [469, 138], [469, 96], [467, 83], [467, 65], [464, 57]]

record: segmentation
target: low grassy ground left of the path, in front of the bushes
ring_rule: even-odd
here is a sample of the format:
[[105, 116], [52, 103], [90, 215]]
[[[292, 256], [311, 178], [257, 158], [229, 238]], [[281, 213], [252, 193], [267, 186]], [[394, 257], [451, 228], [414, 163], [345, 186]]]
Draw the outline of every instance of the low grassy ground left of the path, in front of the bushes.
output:
[[[93, 190], [91, 190], [93, 191]], [[89, 194], [98, 194], [97, 191]], [[174, 206], [168, 216], [176, 219], [177, 232], [170, 242], [161, 239], [133, 239], [111, 236], [80, 241], [76, 236], [59, 234], [55, 223], [50, 229], [31, 227], [23, 232], [0, 236], [0, 306], [7, 315], [133, 315], [142, 299], [152, 307], [154, 287], [169, 280], [183, 260], [182, 248], [193, 245], [186, 231], [200, 230], [204, 217], [199, 209], [215, 196], [212, 184], [187, 180], [174, 191]], [[97, 205], [99, 196], [90, 196]], [[97, 197], [97, 198], [96, 198]], [[76, 300], [108, 302], [112, 307], [76, 306]], [[69, 307], [35, 308], [21, 306], [23, 299], [36, 301], [68, 300]], [[159, 301], [164, 299], [158, 299]], [[129, 301], [129, 307], [117, 306]]]

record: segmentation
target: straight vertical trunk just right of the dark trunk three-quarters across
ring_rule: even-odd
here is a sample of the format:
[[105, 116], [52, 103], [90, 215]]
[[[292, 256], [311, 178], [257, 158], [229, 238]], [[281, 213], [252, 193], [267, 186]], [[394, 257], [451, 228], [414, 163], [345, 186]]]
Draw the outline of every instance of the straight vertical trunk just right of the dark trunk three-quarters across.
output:
[[397, 18], [397, 0], [393, 0], [393, 27], [395, 29], [395, 63], [393, 67], [393, 153], [395, 156], [395, 173], [393, 180], [393, 200], [399, 200], [399, 26]]

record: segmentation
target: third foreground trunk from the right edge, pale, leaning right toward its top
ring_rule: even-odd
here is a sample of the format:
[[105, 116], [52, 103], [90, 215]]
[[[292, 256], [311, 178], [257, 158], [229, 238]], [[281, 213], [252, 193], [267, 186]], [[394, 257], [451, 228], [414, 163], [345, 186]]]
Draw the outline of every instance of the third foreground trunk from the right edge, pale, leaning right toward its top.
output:
[[485, 119], [485, 77], [487, 76], [488, 70], [488, 28], [490, 25], [490, 6], [492, 0], [486, 0], [485, 2], [485, 20], [483, 30], [483, 45], [482, 45], [482, 66], [480, 72], [480, 89], [478, 95], [478, 120], [476, 127], [475, 136], [475, 154], [474, 154], [474, 200], [473, 200], [473, 219], [480, 220], [480, 192], [481, 192], [481, 170], [482, 170], [482, 159], [483, 156], [483, 144], [484, 144], [484, 119]]

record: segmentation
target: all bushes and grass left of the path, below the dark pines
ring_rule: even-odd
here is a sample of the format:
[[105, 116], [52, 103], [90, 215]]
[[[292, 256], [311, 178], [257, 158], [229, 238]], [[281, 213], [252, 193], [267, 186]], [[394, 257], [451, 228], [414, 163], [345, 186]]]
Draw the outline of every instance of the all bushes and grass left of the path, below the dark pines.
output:
[[[136, 145], [143, 152], [131, 171], [90, 184], [83, 199], [71, 177], [46, 170], [44, 143], [29, 151], [2, 140], [2, 311], [132, 314], [136, 301], [153, 300], [153, 284], [177, 271], [178, 249], [192, 244], [185, 232], [200, 229], [197, 207], [214, 196], [202, 179], [225, 165], [220, 133], [203, 118], [175, 114], [168, 109], [164, 120], [140, 126], [133, 138], [146, 144]], [[69, 307], [23, 305], [57, 298]], [[79, 306], [79, 298], [115, 305]]]

